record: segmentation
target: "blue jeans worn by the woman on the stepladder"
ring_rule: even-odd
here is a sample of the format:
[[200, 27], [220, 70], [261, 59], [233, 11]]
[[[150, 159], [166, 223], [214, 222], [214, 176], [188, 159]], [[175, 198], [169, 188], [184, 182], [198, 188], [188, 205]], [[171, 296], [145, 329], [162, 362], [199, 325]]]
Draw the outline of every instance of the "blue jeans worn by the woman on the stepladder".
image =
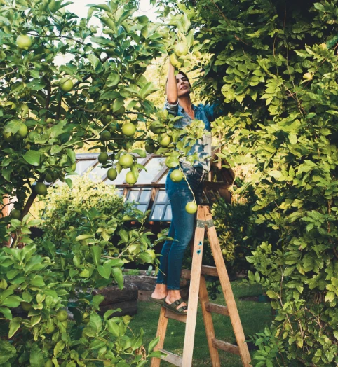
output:
[[[181, 164], [181, 167], [187, 177], [191, 190], [194, 191], [197, 204], [200, 204], [203, 195], [205, 172], [184, 163]], [[184, 251], [194, 233], [196, 218], [196, 215], [189, 214], [185, 210], [187, 202], [194, 200], [187, 181], [185, 179], [182, 179], [180, 182], [171, 181], [171, 172], [173, 172], [173, 168], [168, 172], [165, 191], [170, 200], [173, 216], [168, 237], [172, 237], [174, 240], [167, 240], [163, 244], [160, 268], [157, 276], [157, 283], [167, 284], [170, 290], [180, 289], [180, 275]]]

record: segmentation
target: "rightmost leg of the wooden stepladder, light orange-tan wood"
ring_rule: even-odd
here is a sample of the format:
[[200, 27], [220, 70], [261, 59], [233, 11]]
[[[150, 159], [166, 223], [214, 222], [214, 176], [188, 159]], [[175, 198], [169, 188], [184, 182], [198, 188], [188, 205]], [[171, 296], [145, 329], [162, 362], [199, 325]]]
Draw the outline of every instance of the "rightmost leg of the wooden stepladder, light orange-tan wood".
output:
[[[210, 212], [206, 214], [206, 220], [212, 220]], [[242, 328], [241, 319], [238, 314], [236, 307], [236, 301], [234, 298], [234, 293], [232, 293], [231, 284], [225, 267], [224, 258], [222, 255], [221, 248], [219, 247], [219, 241], [216, 233], [215, 226], [209, 227], [207, 230], [208, 239], [210, 242], [210, 247], [212, 255], [215, 260], [219, 281], [221, 282], [222, 291], [224, 294], [225, 301], [229, 310], [229, 317], [231, 319], [232, 328], [234, 329], [237, 345], [241, 355], [243, 366], [250, 367], [249, 363], [251, 361], [248, 345], [245, 342], [245, 335]]]

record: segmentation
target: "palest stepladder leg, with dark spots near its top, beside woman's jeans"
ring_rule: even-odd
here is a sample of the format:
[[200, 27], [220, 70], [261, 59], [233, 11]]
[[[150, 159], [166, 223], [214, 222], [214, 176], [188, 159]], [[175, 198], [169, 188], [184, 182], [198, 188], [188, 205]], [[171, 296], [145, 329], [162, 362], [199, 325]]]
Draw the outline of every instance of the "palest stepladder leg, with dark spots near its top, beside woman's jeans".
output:
[[[198, 205], [197, 221], [205, 220], [206, 207]], [[194, 352], [194, 340], [196, 329], [197, 305], [198, 305], [198, 290], [201, 279], [203, 241], [204, 241], [205, 226], [196, 226], [194, 251], [191, 264], [191, 279], [189, 288], [187, 324], [185, 327], [182, 367], [191, 367], [192, 355]]]

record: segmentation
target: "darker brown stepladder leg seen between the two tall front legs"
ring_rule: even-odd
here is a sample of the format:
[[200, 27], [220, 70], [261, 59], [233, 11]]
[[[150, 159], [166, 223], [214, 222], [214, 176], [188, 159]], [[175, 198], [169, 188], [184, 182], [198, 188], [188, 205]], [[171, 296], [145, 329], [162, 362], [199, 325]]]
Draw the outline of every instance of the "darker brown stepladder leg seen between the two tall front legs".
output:
[[210, 359], [212, 363], [212, 367], [220, 367], [221, 363], [219, 361], [218, 349], [212, 345], [212, 339], [215, 339], [215, 329], [214, 324], [212, 323], [211, 313], [208, 312], [205, 308], [205, 303], [209, 302], [207, 285], [205, 283], [205, 278], [201, 275], [201, 283], [200, 283], [200, 303], [203, 314], [203, 321], [205, 326], [205, 334], [208, 340], [208, 347], [210, 351]]

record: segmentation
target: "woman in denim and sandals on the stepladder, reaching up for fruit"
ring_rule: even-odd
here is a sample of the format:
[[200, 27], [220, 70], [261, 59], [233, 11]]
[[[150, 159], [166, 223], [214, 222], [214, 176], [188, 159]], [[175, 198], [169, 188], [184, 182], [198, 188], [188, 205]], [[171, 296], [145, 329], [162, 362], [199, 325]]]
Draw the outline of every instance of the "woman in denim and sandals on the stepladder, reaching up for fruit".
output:
[[[198, 160], [194, 162], [194, 165], [187, 161], [180, 162], [189, 186], [194, 191], [196, 202], [199, 204], [203, 195], [203, 180], [210, 170], [210, 162], [207, 158], [211, 155], [210, 122], [217, 116], [215, 116], [214, 106], [191, 104], [190, 92], [191, 85], [187, 75], [179, 71], [179, 74], [175, 76], [175, 68], [169, 63], [165, 109], [173, 116], [182, 117], [177, 120], [175, 127], [182, 129], [194, 119], [203, 120], [205, 123], [205, 137], [203, 140], [198, 140], [189, 151], [189, 155], [197, 153]], [[156, 288], [151, 294], [151, 300], [177, 314], [187, 314], [187, 304], [180, 295], [180, 274], [184, 251], [194, 233], [195, 222], [195, 216], [187, 213], [185, 206], [187, 202], [194, 200], [194, 196], [185, 179], [179, 183], [170, 179], [172, 171], [173, 169], [169, 170], [165, 190], [173, 213], [168, 236], [174, 240], [168, 240], [163, 245]]]

